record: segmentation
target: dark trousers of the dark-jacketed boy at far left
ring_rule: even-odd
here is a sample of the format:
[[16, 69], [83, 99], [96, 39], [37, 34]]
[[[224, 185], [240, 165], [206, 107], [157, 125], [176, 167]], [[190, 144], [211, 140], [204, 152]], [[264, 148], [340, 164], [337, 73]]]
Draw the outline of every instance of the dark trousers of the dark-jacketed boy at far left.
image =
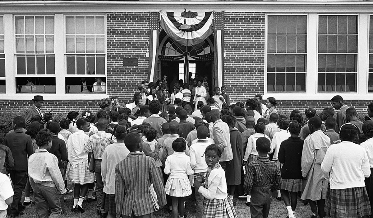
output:
[[13, 195], [13, 202], [10, 205], [10, 214], [18, 215], [20, 211], [18, 211], [18, 206], [21, 205], [21, 197], [22, 191], [25, 189], [26, 186], [26, 175], [27, 171], [9, 171], [10, 179], [12, 179], [14, 195]]

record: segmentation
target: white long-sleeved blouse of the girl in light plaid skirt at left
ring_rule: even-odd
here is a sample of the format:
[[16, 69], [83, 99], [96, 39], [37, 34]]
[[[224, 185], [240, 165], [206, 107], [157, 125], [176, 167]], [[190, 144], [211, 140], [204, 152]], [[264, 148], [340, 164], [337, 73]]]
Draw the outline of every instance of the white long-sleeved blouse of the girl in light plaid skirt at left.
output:
[[88, 160], [88, 151], [85, 150], [84, 147], [89, 138], [90, 136], [86, 135], [84, 131], [80, 129], [77, 129], [75, 133], [69, 136], [67, 147], [70, 164], [76, 165]]

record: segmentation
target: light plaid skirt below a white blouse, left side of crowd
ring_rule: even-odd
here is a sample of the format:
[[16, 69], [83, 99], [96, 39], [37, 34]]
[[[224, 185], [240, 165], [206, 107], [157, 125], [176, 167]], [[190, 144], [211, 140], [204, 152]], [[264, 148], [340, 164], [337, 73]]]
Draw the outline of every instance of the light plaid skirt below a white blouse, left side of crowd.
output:
[[66, 169], [66, 179], [76, 184], [87, 184], [94, 182], [94, 173], [91, 173], [88, 169], [88, 161], [72, 165], [68, 163]]

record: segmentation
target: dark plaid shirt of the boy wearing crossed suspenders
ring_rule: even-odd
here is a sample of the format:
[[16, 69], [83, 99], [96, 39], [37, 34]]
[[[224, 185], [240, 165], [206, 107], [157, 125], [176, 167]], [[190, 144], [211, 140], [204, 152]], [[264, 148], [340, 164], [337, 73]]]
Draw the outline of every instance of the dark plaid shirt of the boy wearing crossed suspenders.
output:
[[[270, 163], [267, 175], [263, 175], [268, 164]], [[281, 187], [281, 172], [277, 164], [270, 161], [266, 156], [259, 156], [258, 160], [248, 163], [247, 172], [245, 175], [244, 188], [248, 195], [251, 195], [251, 188], [253, 186], [259, 186], [263, 176], [266, 176], [267, 183], [265, 180], [263, 186], [270, 185], [272, 191], [279, 190]]]

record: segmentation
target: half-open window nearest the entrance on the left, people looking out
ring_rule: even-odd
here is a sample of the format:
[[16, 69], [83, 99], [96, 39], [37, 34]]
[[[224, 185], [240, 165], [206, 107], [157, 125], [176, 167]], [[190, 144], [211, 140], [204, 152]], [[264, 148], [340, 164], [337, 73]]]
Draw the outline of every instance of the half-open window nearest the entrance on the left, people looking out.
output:
[[[106, 81], [105, 70], [105, 19], [104, 16], [66, 16], [66, 92], [98, 92], [95, 85], [81, 85], [81, 78], [87, 81], [100, 77]], [[74, 77], [77, 76], [77, 77]], [[93, 78], [92, 78], [93, 77]], [[76, 84], [79, 85], [76, 85]], [[101, 90], [105, 85], [97, 86]], [[76, 86], [76, 87], [73, 87]], [[90, 86], [94, 86], [93, 88]], [[92, 91], [91, 91], [92, 90]]]

